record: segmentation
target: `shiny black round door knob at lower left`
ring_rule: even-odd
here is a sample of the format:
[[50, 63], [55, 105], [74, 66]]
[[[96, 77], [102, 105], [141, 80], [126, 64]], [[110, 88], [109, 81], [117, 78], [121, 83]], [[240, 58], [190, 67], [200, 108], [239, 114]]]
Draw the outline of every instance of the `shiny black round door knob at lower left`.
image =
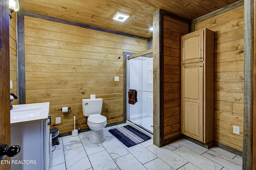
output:
[[3, 160], [6, 156], [16, 156], [18, 153], [20, 153], [20, 146], [13, 145], [9, 148], [8, 145], [2, 145], [0, 147], [0, 160]]

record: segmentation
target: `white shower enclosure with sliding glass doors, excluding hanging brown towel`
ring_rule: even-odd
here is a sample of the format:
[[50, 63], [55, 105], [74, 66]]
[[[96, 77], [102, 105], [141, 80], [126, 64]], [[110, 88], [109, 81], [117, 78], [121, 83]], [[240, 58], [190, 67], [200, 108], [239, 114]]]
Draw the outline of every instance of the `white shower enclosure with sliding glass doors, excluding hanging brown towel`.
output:
[[[141, 53], [140, 53], [141, 54]], [[128, 104], [127, 121], [130, 121], [150, 133], [153, 133], [153, 53], [152, 50], [143, 55], [134, 54], [127, 57], [127, 89], [137, 91], [134, 105]]]

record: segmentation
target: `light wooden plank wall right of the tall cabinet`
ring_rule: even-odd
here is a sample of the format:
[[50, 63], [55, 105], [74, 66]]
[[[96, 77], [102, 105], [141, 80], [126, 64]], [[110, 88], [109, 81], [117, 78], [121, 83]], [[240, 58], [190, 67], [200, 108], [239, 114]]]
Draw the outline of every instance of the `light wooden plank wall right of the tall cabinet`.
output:
[[[195, 24], [215, 31], [214, 140], [242, 151], [244, 117], [244, 6]], [[233, 133], [240, 127], [240, 135]]]

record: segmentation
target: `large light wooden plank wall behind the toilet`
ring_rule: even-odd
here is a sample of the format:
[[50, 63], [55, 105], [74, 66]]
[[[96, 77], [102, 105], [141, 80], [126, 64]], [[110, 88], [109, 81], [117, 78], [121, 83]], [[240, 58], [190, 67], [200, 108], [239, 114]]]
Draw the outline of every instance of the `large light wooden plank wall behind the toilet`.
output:
[[[147, 41], [27, 16], [24, 25], [26, 103], [50, 102], [51, 128], [72, 131], [75, 115], [78, 129], [82, 99], [90, 94], [103, 99], [108, 123], [124, 120], [123, 52], [145, 51]], [[71, 109], [63, 114], [62, 107]], [[55, 124], [56, 117], [61, 124]]]

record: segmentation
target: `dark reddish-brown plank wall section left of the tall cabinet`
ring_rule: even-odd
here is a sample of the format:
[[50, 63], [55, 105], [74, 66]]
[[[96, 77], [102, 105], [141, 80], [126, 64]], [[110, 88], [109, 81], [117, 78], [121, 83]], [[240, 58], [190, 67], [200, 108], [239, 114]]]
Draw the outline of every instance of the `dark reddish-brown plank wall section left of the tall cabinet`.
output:
[[164, 140], [180, 135], [181, 36], [188, 24], [164, 16]]

